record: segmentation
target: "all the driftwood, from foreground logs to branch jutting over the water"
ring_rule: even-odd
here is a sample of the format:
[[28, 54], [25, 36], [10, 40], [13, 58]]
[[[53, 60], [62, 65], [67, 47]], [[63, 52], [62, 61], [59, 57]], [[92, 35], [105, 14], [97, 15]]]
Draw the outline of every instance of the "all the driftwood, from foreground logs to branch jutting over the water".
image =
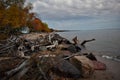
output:
[[[94, 41], [92, 40], [85, 40], [81, 43], [82, 46], [86, 42]], [[75, 37], [73, 39], [75, 44], [78, 44], [78, 39]], [[81, 55], [80, 50], [76, 51], [75, 53], [70, 52], [70, 54], [67, 57], [58, 57], [57, 49], [58, 47], [64, 43], [69, 46], [73, 46], [75, 49], [76, 45], [72, 44], [67, 39], [59, 36], [58, 34], [48, 34], [48, 35], [42, 35], [42, 37], [37, 37], [36, 39], [27, 39], [26, 37], [16, 37], [11, 36], [9, 39], [5, 40], [6, 44], [0, 43], [0, 54], [4, 53], [11, 53], [12, 55], [15, 54], [15, 57], [24, 58], [25, 61], [23, 61], [21, 64], [17, 65], [17, 67], [6, 71], [6, 76], [2, 78], [2, 80], [21, 80], [24, 75], [26, 75], [27, 72], [33, 67], [36, 66], [36, 69], [38, 69], [38, 74], [35, 79], [38, 80], [52, 80], [50, 76], [51, 69], [60, 64], [64, 63], [63, 61], [68, 61], [70, 58], [74, 56]], [[64, 46], [64, 45], [63, 45]], [[73, 47], [71, 47], [73, 49]], [[49, 49], [55, 49], [56, 52], [49, 51]], [[61, 49], [62, 50], [62, 49]], [[40, 52], [41, 51], [41, 52]], [[46, 51], [46, 52], [45, 52]], [[69, 51], [69, 49], [67, 49]], [[54, 53], [54, 54], [53, 54]], [[47, 64], [46, 64], [47, 63]], [[69, 62], [67, 62], [70, 64]], [[64, 63], [65, 64], [65, 63]], [[76, 69], [74, 67], [74, 69]], [[64, 70], [64, 69], [63, 69]], [[76, 69], [77, 70], [77, 69]], [[66, 70], [67, 71], [67, 70]], [[68, 70], [69, 71], [69, 70]], [[79, 72], [79, 71], [78, 71]]]

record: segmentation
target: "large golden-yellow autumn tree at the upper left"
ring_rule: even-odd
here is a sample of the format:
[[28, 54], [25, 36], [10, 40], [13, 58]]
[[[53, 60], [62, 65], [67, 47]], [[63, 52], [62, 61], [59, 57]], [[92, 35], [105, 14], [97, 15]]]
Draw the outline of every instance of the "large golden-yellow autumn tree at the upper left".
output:
[[24, 7], [24, 2], [25, 0], [0, 0], [0, 27], [11, 30], [30, 23], [32, 16], [29, 10], [32, 9], [32, 4]]

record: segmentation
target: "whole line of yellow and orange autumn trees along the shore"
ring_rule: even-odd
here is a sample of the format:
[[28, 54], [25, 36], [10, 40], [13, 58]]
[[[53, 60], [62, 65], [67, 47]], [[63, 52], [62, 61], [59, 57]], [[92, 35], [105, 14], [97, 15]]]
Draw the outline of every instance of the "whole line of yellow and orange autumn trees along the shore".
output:
[[0, 0], [0, 32], [16, 34], [21, 28], [29, 27], [31, 31], [51, 32], [48, 24], [36, 17], [31, 3], [25, 0]]

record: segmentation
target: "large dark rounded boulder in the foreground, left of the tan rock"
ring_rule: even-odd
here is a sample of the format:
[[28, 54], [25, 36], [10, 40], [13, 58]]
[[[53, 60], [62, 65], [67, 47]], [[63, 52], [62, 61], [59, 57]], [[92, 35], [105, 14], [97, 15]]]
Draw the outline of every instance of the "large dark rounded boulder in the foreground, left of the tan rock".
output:
[[52, 71], [61, 77], [80, 78], [81, 72], [66, 60], [61, 60], [53, 68]]

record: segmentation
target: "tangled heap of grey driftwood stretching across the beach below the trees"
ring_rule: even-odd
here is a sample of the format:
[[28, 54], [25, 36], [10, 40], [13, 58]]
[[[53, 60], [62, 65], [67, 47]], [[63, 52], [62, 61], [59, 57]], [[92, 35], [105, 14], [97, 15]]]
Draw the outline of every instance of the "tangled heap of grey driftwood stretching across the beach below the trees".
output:
[[29, 39], [29, 37], [27, 39], [26, 36], [11, 36], [7, 40], [4, 40], [5, 44], [0, 44], [0, 53], [11, 53], [13, 49], [15, 51], [23, 51], [24, 53], [32, 53], [40, 51], [42, 46], [51, 50], [56, 48], [61, 42], [70, 43], [67, 39], [54, 33], [41, 36], [36, 37], [36, 39]]

